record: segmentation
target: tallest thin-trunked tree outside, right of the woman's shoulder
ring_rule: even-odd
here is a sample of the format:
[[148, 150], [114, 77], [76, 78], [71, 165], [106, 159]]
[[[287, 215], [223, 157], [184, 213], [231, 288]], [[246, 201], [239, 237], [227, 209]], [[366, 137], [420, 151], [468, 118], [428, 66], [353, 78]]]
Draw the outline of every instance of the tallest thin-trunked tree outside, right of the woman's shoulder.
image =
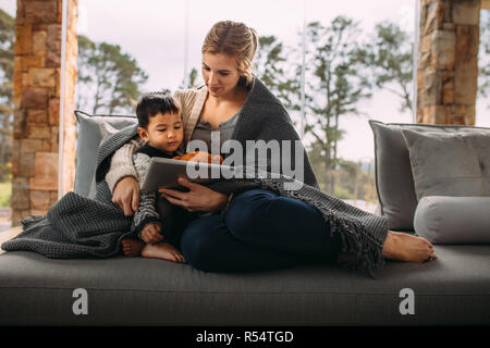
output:
[[339, 119], [360, 114], [357, 103], [371, 97], [367, 51], [358, 44], [359, 35], [357, 24], [344, 16], [335, 17], [329, 27], [319, 22], [307, 25], [305, 134], [311, 134], [321, 148], [323, 184], [330, 194], [334, 194], [338, 142], [343, 135]]

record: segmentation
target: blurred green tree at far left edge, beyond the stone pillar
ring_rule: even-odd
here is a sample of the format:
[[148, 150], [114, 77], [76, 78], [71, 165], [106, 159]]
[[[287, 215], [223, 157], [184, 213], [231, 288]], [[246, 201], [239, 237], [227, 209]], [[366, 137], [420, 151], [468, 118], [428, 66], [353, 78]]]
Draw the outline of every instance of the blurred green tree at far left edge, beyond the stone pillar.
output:
[[12, 157], [15, 18], [0, 10], [0, 182], [10, 176]]

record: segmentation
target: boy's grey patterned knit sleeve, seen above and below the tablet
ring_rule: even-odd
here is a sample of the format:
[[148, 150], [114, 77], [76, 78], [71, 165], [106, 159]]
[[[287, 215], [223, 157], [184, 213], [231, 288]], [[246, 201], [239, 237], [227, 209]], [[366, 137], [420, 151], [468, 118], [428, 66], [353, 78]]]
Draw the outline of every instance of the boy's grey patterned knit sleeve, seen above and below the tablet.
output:
[[[139, 186], [145, 181], [146, 173], [150, 164], [150, 157], [145, 153], [136, 153], [134, 156], [134, 170]], [[156, 209], [157, 207], [157, 194], [149, 191], [139, 191], [139, 208], [134, 213], [133, 225], [142, 238], [142, 229], [149, 223], [158, 223], [161, 227], [160, 215]]]

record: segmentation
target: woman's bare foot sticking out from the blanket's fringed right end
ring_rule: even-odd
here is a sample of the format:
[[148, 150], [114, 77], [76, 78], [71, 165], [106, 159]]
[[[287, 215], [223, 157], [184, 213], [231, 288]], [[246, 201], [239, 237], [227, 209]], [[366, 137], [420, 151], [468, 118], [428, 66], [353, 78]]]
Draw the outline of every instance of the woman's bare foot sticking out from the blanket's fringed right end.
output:
[[436, 259], [433, 246], [426, 238], [392, 231], [388, 232], [381, 254], [387, 259], [408, 262]]

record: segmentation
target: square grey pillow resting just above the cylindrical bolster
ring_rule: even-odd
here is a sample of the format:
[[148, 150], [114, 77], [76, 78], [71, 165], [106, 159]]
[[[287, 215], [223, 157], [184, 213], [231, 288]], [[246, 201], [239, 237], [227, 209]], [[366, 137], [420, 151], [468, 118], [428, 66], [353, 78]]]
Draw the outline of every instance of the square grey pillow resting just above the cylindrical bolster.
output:
[[417, 199], [425, 196], [490, 196], [490, 134], [402, 130]]

